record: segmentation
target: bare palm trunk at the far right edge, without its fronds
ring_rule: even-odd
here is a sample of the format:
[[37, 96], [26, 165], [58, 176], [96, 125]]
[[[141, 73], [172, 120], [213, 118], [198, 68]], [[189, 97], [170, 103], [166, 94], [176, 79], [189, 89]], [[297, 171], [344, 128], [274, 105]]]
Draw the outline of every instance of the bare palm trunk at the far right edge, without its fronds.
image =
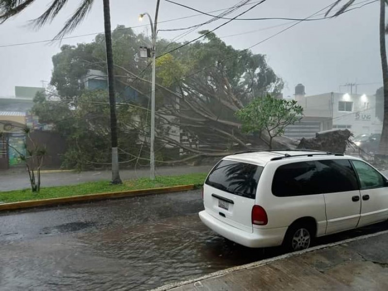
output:
[[380, 140], [381, 155], [388, 156], [388, 64], [387, 51], [385, 45], [385, 5], [386, 0], [380, 0], [380, 57], [381, 68], [383, 70], [383, 86], [384, 86], [384, 121], [383, 131]]

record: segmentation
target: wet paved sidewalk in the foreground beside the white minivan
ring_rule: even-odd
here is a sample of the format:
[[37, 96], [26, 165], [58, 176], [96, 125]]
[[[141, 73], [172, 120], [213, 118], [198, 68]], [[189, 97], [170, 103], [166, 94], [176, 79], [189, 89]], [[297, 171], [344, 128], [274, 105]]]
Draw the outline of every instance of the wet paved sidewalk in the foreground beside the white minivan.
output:
[[[388, 290], [388, 231], [227, 269], [157, 290]], [[179, 286], [179, 287], [176, 287]], [[174, 288], [176, 287], [176, 288]]]

